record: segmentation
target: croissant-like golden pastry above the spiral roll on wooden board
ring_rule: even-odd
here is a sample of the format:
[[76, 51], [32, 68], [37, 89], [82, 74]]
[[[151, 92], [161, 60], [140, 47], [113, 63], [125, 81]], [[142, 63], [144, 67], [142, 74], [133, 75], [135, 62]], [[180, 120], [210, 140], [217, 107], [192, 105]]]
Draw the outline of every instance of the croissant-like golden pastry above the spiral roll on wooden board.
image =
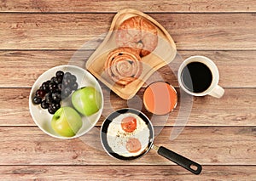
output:
[[134, 48], [140, 56], [146, 56], [157, 46], [157, 28], [141, 16], [133, 16], [119, 25], [116, 42], [119, 47]]

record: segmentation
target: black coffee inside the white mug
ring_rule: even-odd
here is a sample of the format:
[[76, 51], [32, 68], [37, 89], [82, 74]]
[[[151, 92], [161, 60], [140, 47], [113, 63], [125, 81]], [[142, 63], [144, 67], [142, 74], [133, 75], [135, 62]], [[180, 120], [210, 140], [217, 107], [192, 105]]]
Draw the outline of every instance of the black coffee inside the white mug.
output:
[[185, 88], [193, 93], [202, 93], [212, 83], [212, 72], [201, 62], [191, 62], [183, 68], [181, 73]]

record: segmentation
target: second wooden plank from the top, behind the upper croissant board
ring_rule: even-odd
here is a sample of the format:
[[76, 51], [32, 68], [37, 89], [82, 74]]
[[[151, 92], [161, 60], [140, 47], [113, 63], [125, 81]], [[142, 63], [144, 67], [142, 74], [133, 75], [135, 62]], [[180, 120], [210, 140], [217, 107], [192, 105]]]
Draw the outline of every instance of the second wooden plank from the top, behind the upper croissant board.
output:
[[[255, 14], [149, 14], [178, 50], [255, 50]], [[1, 49], [96, 48], [114, 14], [0, 14]], [[94, 40], [94, 41], [92, 41]], [[211, 43], [209, 43], [211, 42]]]

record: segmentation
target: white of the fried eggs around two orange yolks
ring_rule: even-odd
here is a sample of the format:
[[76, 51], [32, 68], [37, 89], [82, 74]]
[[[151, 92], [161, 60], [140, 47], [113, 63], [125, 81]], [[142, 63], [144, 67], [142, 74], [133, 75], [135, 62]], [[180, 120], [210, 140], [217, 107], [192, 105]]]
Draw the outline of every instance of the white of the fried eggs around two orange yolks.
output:
[[[125, 117], [133, 116], [137, 120], [137, 128], [132, 133], [125, 132], [121, 127], [121, 122]], [[139, 116], [132, 113], [125, 113], [117, 116], [108, 126], [107, 141], [113, 152], [119, 156], [138, 156], [148, 147], [149, 129], [146, 123]], [[140, 141], [142, 148], [136, 153], [130, 153], [126, 150], [125, 145], [128, 139], [136, 138]]]

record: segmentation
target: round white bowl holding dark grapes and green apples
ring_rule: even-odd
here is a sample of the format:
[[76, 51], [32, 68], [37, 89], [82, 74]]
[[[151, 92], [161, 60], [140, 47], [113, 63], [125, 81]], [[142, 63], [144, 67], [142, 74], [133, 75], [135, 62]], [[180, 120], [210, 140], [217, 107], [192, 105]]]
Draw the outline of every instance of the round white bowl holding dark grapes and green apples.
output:
[[[48, 110], [44, 110], [41, 108], [40, 105], [34, 105], [32, 103], [32, 99], [35, 96], [36, 91], [38, 88], [42, 85], [43, 82], [49, 80], [52, 76], [55, 76], [56, 71], [69, 71], [74, 76], [77, 77], [77, 82], [79, 84], [79, 88], [85, 87], [85, 86], [91, 86], [96, 88], [96, 90], [101, 93], [102, 96], [102, 106], [101, 109], [98, 110], [94, 115], [92, 116], [82, 116], [83, 120], [83, 126], [79, 129], [79, 132], [76, 133], [73, 137], [63, 137], [59, 134], [55, 133], [55, 131], [52, 129], [50, 122], [53, 115], [49, 114]], [[71, 95], [67, 98], [61, 101], [61, 106], [72, 106], [71, 103]], [[32, 86], [32, 90], [29, 95], [29, 110], [32, 115], [32, 118], [34, 122], [37, 124], [37, 126], [44, 132], [47, 133], [49, 136], [55, 137], [57, 139], [74, 139], [82, 136], [84, 133], [87, 133], [90, 131], [92, 127], [96, 125], [96, 122], [100, 119], [102, 115], [103, 110], [103, 93], [102, 88], [100, 87], [99, 82], [96, 81], [96, 78], [92, 76], [88, 71], [85, 71], [84, 69], [80, 68], [79, 66], [74, 65], [60, 65], [55, 66], [48, 71], [45, 71], [41, 76], [38, 77], [38, 80], [34, 83]]]

